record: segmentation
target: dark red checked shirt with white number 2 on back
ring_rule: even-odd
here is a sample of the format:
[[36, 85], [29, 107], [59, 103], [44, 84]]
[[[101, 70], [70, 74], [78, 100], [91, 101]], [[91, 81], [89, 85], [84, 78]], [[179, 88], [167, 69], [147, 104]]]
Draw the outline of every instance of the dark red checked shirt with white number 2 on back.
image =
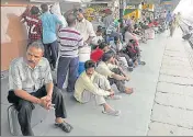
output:
[[29, 39], [31, 41], [38, 41], [42, 39], [43, 28], [42, 28], [42, 21], [36, 15], [30, 14], [30, 9], [26, 9], [25, 12], [22, 14], [22, 18], [26, 22], [27, 30], [29, 30]]

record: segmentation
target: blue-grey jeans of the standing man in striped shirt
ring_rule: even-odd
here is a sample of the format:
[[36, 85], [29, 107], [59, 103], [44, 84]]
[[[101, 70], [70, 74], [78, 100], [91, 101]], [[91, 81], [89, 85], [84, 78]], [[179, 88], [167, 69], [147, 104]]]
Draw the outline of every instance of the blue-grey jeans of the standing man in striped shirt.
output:
[[69, 70], [68, 87], [67, 91], [71, 92], [75, 90], [75, 82], [78, 77], [79, 57], [59, 57], [58, 69], [57, 69], [57, 87], [63, 89], [66, 81], [66, 76]]

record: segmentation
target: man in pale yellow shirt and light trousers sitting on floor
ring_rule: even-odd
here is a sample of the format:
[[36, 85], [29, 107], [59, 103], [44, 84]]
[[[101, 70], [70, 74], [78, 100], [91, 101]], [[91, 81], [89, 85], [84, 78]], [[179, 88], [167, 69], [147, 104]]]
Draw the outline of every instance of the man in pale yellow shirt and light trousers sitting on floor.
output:
[[104, 114], [117, 116], [120, 111], [112, 109], [105, 99], [118, 100], [121, 96], [114, 95], [110, 82], [104, 76], [94, 71], [95, 62], [88, 60], [84, 64], [86, 71], [81, 73], [75, 85], [73, 96], [80, 103], [87, 103], [94, 99], [96, 104], [103, 105]]

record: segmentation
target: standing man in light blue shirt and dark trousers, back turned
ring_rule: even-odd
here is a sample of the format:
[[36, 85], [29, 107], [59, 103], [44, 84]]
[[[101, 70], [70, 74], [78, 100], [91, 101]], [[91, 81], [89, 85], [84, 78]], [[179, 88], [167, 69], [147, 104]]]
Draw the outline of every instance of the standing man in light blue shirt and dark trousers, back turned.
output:
[[63, 26], [63, 22], [49, 12], [49, 8], [46, 3], [41, 5], [43, 14], [41, 20], [43, 23], [43, 43], [45, 45], [45, 57], [49, 60], [52, 69], [56, 68], [56, 61], [58, 58], [58, 42], [57, 42], [57, 28]]

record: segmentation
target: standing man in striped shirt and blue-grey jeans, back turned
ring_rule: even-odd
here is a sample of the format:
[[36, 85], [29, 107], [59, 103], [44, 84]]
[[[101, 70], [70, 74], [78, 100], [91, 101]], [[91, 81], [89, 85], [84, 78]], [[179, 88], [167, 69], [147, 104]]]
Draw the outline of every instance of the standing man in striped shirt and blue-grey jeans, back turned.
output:
[[63, 89], [69, 70], [67, 92], [75, 90], [75, 82], [78, 77], [79, 57], [78, 49], [83, 46], [83, 38], [75, 28], [76, 16], [70, 13], [67, 15], [68, 27], [59, 30], [60, 57], [57, 69], [57, 87]]

